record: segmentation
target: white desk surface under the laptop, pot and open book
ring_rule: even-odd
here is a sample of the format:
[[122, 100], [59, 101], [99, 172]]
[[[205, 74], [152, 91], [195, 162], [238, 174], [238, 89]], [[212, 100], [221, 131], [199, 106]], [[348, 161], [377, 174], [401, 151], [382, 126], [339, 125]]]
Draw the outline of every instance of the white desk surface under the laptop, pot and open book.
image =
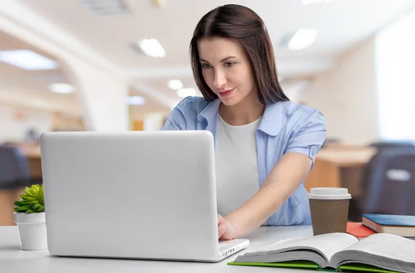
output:
[[[247, 250], [257, 250], [283, 238], [313, 236], [311, 226], [259, 227], [246, 236], [250, 239]], [[279, 269], [268, 267], [250, 267], [227, 265], [229, 261], [247, 250], [225, 258], [219, 263], [194, 263], [173, 261], [142, 261], [109, 258], [64, 258], [51, 256], [46, 251], [21, 250], [19, 234], [15, 226], [0, 227], [0, 272], [7, 273], [138, 273], [138, 272], [291, 272], [304, 270]]]

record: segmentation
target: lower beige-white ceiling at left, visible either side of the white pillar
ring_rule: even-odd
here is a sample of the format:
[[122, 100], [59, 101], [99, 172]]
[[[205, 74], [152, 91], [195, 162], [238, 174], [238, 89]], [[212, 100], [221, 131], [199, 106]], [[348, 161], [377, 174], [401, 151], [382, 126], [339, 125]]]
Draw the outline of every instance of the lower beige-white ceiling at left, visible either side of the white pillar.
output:
[[[0, 51], [28, 49], [57, 61], [53, 55], [44, 50], [26, 44], [15, 37], [0, 31]], [[0, 62], [0, 104], [27, 106], [34, 109], [62, 112], [70, 115], [82, 115], [77, 90], [71, 94], [50, 92], [49, 84], [70, 83], [59, 68], [56, 70], [24, 70]], [[130, 89], [131, 95], [141, 95], [146, 99], [145, 106], [131, 106], [135, 115], [148, 112], [168, 110], [154, 97], [140, 93], [136, 88]]]

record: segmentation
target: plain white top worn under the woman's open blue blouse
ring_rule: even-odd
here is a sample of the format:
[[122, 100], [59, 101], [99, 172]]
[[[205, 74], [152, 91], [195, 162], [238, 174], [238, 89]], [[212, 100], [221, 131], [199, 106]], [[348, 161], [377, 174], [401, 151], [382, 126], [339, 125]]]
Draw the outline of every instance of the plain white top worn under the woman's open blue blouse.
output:
[[261, 117], [232, 126], [218, 115], [215, 168], [218, 214], [234, 211], [259, 190], [256, 131]]

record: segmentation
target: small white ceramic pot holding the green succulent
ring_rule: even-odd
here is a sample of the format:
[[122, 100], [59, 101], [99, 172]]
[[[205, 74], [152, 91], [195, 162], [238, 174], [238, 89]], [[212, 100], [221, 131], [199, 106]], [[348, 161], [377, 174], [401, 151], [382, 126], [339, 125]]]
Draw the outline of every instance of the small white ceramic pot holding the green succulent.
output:
[[22, 250], [48, 249], [44, 212], [35, 212], [33, 214], [15, 212], [14, 218], [19, 229]]

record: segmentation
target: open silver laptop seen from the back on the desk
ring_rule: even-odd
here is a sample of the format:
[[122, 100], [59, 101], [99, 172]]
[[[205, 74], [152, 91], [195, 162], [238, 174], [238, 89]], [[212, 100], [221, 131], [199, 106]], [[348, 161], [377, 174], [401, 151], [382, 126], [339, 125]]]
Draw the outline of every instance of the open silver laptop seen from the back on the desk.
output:
[[221, 261], [208, 131], [47, 132], [48, 250], [57, 256]]

